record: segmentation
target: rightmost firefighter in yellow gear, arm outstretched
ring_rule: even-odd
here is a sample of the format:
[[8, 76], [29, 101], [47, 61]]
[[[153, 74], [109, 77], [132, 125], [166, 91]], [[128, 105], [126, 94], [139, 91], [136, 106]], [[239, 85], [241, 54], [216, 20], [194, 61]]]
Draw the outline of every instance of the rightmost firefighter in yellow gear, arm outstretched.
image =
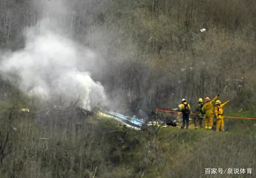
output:
[[214, 107], [214, 116], [216, 118], [216, 132], [219, 132], [220, 126], [221, 126], [221, 131], [224, 132], [224, 110], [223, 107], [228, 104], [229, 100], [227, 102], [224, 102], [221, 104], [220, 100], [217, 100], [215, 102], [215, 107]]

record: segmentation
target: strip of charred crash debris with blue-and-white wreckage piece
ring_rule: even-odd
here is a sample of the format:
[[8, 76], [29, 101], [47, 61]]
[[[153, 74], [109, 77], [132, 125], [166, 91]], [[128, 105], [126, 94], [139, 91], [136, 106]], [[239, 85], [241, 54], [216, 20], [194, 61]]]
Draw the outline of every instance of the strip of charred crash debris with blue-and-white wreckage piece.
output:
[[92, 111], [80, 108], [76, 103], [68, 107], [52, 106], [37, 114], [37, 120], [43, 127], [58, 126], [65, 128], [67, 125], [76, 128], [84, 127], [84, 121], [91, 123], [94, 119], [108, 119], [114, 121], [118, 126], [141, 130], [155, 125], [158, 127], [177, 127], [181, 122], [178, 114], [161, 113], [154, 111], [139, 110], [136, 115], [127, 116], [119, 112], [111, 112], [102, 108], [94, 108]]

